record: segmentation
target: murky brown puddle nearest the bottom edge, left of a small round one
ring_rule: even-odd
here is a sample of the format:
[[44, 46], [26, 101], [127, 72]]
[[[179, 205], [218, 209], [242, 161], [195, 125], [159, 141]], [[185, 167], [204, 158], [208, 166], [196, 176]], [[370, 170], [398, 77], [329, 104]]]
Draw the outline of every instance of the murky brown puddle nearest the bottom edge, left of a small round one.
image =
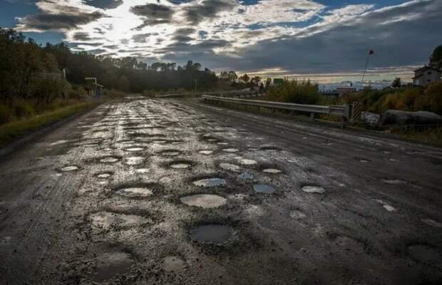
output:
[[125, 252], [110, 252], [97, 257], [97, 267], [93, 281], [102, 282], [114, 279], [118, 275], [128, 274], [133, 260]]

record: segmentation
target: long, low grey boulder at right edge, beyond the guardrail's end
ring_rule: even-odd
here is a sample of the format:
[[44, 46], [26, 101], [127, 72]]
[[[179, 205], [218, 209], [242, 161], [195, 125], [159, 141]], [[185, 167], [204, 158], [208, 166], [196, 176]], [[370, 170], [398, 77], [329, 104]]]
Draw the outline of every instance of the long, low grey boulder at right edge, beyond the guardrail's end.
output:
[[442, 116], [426, 111], [386, 110], [378, 125], [442, 125]]

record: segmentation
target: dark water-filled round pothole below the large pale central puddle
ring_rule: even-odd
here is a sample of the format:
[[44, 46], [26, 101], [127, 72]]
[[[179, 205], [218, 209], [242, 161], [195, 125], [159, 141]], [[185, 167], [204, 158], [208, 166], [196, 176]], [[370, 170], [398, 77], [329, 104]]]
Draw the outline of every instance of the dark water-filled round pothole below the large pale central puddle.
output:
[[190, 239], [203, 244], [222, 245], [232, 239], [234, 230], [223, 224], [206, 224], [190, 230]]

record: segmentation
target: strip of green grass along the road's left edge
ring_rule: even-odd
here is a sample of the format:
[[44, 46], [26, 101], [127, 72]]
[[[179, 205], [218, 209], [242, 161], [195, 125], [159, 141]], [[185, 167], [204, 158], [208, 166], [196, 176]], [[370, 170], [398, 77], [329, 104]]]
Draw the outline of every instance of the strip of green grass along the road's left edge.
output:
[[51, 125], [52, 123], [56, 123], [58, 120], [67, 118], [75, 113], [89, 110], [97, 105], [99, 105], [98, 102], [77, 103], [48, 113], [35, 115], [31, 118], [0, 125], [0, 146], [4, 146], [27, 133], [31, 133], [47, 125]]

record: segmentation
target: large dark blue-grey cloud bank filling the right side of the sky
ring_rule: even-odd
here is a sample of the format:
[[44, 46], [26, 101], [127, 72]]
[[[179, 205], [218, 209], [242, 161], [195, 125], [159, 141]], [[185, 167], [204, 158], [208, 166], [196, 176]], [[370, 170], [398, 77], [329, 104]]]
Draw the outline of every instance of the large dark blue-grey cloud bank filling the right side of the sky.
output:
[[[412, 2], [406, 6], [364, 14], [344, 23], [306, 28], [299, 36], [280, 36], [238, 48], [230, 57], [213, 53], [207, 42], [192, 46], [173, 44], [163, 49], [165, 58], [184, 62], [187, 58], [212, 68], [259, 70], [282, 68], [292, 73], [360, 71], [369, 49], [374, 49], [371, 68], [413, 66], [428, 61], [433, 48], [442, 44], [442, 1]], [[252, 36], [255, 31], [241, 34]], [[257, 32], [256, 32], [257, 33]], [[226, 44], [227, 46], [227, 44]]]

